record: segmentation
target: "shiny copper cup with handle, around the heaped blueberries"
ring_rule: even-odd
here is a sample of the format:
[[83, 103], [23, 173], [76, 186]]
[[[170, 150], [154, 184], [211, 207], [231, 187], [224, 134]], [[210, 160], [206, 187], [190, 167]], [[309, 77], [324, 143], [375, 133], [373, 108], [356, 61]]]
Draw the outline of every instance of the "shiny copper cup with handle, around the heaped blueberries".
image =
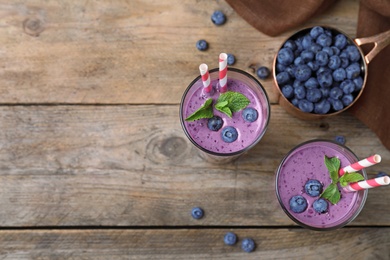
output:
[[[371, 62], [371, 60], [383, 49], [385, 48], [387, 45], [390, 44], [390, 31], [386, 31], [386, 32], [383, 32], [381, 34], [377, 34], [375, 36], [371, 36], [371, 37], [366, 37], [366, 38], [356, 38], [356, 39], [352, 39], [351, 37], [349, 37], [346, 33], [340, 31], [339, 29], [336, 29], [336, 28], [333, 28], [333, 27], [329, 27], [329, 26], [322, 26], [320, 25], [322, 28], [324, 29], [328, 29], [332, 32], [333, 35], [336, 35], [336, 34], [344, 34], [345, 37], [347, 38], [348, 40], [348, 44], [354, 44], [357, 49], [359, 50], [360, 52], [360, 56], [361, 56], [361, 59], [360, 59], [360, 65], [361, 65], [361, 70], [362, 70], [362, 78], [363, 78], [363, 86], [362, 88], [360, 89], [359, 93], [355, 96], [354, 100], [352, 101], [352, 103], [346, 107], [344, 107], [343, 109], [339, 110], [339, 111], [335, 111], [335, 112], [331, 112], [331, 113], [327, 113], [327, 114], [315, 114], [315, 113], [307, 113], [307, 112], [303, 112], [302, 110], [300, 110], [299, 108], [297, 108], [296, 106], [294, 106], [283, 94], [282, 94], [282, 91], [276, 81], [276, 62], [277, 62], [277, 56], [278, 56], [278, 53], [279, 53], [279, 50], [284, 46], [284, 44], [288, 41], [288, 40], [294, 40], [294, 39], [297, 39], [298, 37], [300, 36], [303, 36], [305, 34], [307, 34], [308, 32], [310, 32], [310, 30], [313, 28], [313, 27], [308, 27], [308, 28], [305, 28], [305, 29], [302, 29], [296, 33], [294, 33], [293, 35], [291, 35], [290, 37], [288, 37], [282, 44], [281, 46], [278, 48], [278, 51], [274, 57], [274, 61], [273, 61], [273, 78], [274, 78], [274, 88], [276, 90], [276, 93], [278, 94], [278, 101], [279, 101], [279, 104], [280, 106], [282, 106], [289, 114], [297, 117], [297, 118], [300, 118], [300, 119], [303, 119], [303, 120], [315, 120], [315, 119], [321, 119], [321, 118], [325, 118], [325, 117], [329, 117], [329, 116], [334, 116], [334, 115], [337, 115], [337, 114], [340, 114], [342, 112], [344, 112], [345, 110], [347, 110], [348, 108], [350, 108], [351, 106], [353, 106], [356, 101], [358, 100], [358, 98], [362, 95], [363, 93], [363, 90], [364, 90], [364, 87], [366, 85], [366, 81], [367, 81], [367, 73], [368, 73], [368, 70], [367, 70], [367, 66], [368, 64]], [[367, 55], [364, 55], [362, 49], [360, 46], [362, 45], [365, 45], [365, 44], [374, 44], [374, 47], [370, 50], [370, 52], [367, 54]]]

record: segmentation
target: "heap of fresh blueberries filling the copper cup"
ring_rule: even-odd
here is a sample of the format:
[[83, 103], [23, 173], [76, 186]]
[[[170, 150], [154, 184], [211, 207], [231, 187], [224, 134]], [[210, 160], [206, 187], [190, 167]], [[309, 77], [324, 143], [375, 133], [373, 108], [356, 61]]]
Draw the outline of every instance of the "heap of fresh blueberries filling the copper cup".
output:
[[301, 111], [328, 114], [349, 106], [363, 86], [358, 48], [342, 33], [316, 26], [288, 39], [276, 57], [276, 81]]

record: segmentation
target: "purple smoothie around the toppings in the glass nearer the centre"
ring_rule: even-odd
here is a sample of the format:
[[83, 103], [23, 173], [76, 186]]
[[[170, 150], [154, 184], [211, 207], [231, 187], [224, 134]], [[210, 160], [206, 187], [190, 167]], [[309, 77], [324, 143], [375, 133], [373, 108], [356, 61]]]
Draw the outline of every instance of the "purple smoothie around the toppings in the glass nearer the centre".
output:
[[[239, 92], [246, 96], [250, 104], [248, 107], [255, 108], [258, 118], [254, 122], [247, 122], [242, 117], [242, 110], [233, 113], [232, 118], [215, 109], [214, 105], [220, 95], [218, 89], [218, 69], [210, 71], [211, 84], [214, 89], [212, 95], [205, 95], [203, 84], [198, 77], [190, 84], [185, 92], [181, 104], [181, 122], [189, 139], [201, 150], [213, 155], [229, 156], [242, 153], [255, 145], [265, 133], [269, 116], [268, 97], [260, 85], [251, 75], [238, 69], [228, 70], [228, 91]], [[211, 131], [207, 127], [208, 119], [199, 119], [187, 122], [184, 119], [194, 113], [208, 98], [213, 99], [213, 114], [220, 116], [223, 127], [218, 131]], [[224, 142], [221, 131], [226, 126], [233, 126], [238, 131], [238, 138], [232, 143]]]

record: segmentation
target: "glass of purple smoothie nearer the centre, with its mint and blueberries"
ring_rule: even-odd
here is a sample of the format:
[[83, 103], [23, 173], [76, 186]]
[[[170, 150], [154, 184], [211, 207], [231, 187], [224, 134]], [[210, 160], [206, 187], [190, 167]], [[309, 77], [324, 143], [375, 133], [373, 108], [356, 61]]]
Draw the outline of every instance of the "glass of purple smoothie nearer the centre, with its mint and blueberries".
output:
[[270, 120], [270, 104], [263, 86], [247, 72], [228, 68], [227, 91], [221, 91], [219, 76], [218, 68], [210, 70], [209, 92], [201, 76], [190, 83], [181, 100], [180, 122], [202, 158], [224, 163], [260, 141]]

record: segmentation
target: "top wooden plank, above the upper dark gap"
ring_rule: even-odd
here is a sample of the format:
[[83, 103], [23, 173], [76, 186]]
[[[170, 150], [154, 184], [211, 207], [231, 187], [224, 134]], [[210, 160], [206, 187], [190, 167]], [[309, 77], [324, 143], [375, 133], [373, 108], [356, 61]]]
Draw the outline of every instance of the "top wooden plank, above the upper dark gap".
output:
[[[228, 17], [221, 27], [210, 21], [217, 9]], [[302, 27], [354, 35], [357, 13], [358, 1], [339, 1]], [[0, 103], [177, 104], [200, 63], [217, 67], [220, 52], [233, 53], [255, 75], [294, 30], [266, 36], [225, 1], [1, 0]], [[208, 51], [196, 50], [199, 39]], [[276, 102], [272, 80], [263, 83]]]

